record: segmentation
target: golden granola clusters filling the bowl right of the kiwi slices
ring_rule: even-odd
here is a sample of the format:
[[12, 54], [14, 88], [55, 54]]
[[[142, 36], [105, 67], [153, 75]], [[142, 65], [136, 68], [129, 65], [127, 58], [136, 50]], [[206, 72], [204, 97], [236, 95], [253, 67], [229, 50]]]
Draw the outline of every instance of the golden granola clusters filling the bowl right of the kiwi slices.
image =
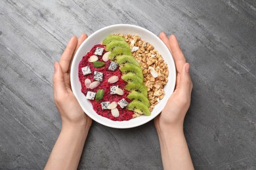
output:
[[[163, 87], [167, 84], [169, 75], [167, 63], [163, 60], [158, 50], [149, 42], [143, 41], [139, 35], [122, 35], [129, 43], [132, 54], [142, 67], [144, 84], [148, 88], [148, 100], [150, 101], [150, 111], [163, 99]], [[139, 115], [138, 115], [139, 116]]]

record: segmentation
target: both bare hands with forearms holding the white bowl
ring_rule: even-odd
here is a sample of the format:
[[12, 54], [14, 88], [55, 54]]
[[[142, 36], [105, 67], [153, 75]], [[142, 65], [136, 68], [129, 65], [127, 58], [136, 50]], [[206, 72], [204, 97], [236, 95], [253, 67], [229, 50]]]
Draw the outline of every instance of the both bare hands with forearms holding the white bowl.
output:
[[[77, 40], [70, 39], [60, 62], [54, 63], [54, 103], [60, 112], [62, 129], [54, 144], [45, 169], [77, 169], [83, 146], [92, 120], [83, 112], [70, 86], [70, 65], [75, 51], [87, 38], [83, 34]], [[170, 39], [164, 33], [160, 39], [165, 42], [177, 68], [175, 92], [169, 98], [161, 114], [154, 119], [160, 140], [164, 169], [194, 169], [183, 133], [184, 116], [190, 105], [192, 82], [189, 64], [179, 48], [174, 35]]]

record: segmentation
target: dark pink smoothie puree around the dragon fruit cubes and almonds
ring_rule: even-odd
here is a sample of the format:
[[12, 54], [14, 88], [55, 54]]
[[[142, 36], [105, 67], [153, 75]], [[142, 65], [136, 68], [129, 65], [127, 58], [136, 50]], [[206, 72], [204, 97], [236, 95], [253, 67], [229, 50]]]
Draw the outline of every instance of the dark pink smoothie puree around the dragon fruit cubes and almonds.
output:
[[[110, 120], [114, 120], [114, 121], [123, 121], [123, 120], [130, 120], [131, 118], [133, 118], [133, 111], [127, 110], [126, 107], [125, 108], [121, 108], [119, 105], [117, 105], [117, 109], [119, 110], [119, 116], [116, 118], [114, 116], [112, 116], [111, 110], [109, 109], [104, 109], [102, 110], [102, 106], [100, 103], [104, 102], [104, 101], [109, 101], [110, 103], [112, 103], [113, 101], [120, 101], [121, 99], [125, 99], [128, 103], [130, 103], [131, 101], [129, 99], [127, 99], [127, 95], [129, 94], [129, 92], [127, 90], [124, 90], [125, 85], [127, 84], [124, 80], [121, 79], [121, 71], [117, 68], [116, 71], [110, 71], [108, 69], [108, 67], [110, 66], [111, 61], [108, 60], [106, 62], [104, 62], [102, 60], [102, 56], [104, 55], [104, 53], [106, 53], [107, 51], [104, 50], [101, 56], [98, 56], [98, 61], [102, 61], [105, 63], [105, 65], [103, 67], [100, 68], [96, 68], [93, 65], [93, 62], [89, 62], [88, 59], [95, 55], [95, 50], [97, 47], [100, 48], [105, 48], [104, 45], [102, 44], [96, 44], [95, 46], [93, 46], [93, 48], [91, 49], [90, 52], [88, 52], [85, 56], [83, 56], [83, 58], [81, 59], [80, 63], [79, 63], [79, 69], [78, 69], [78, 76], [79, 76], [79, 80], [81, 82], [81, 92], [84, 93], [85, 95], [87, 95], [87, 92], [97, 92], [100, 89], [104, 90], [104, 96], [103, 99], [100, 101], [96, 101], [96, 99], [94, 100], [89, 100], [91, 102], [91, 104], [93, 105], [93, 109], [95, 110], [95, 112], [97, 114], [99, 114], [100, 116], [104, 116], [106, 118], [109, 118]], [[91, 74], [89, 75], [83, 75], [83, 71], [82, 68], [89, 66], [91, 69]], [[95, 89], [90, 89], [90, 88], [86, 88], [85, 86], [85, 79], [89, 78], [89, 80], [91, 80], [91, 82], [95, 81], [93, 80], [93, 76], [94, 76], [94, 71], [99, 71], [101, 73], [103, 73], [103, 80], [100, 82], [99, 86], [97, 86]], [[110, 84], [108, 82], [108, 78], [110, 78], [111, 76], [118, 76], [119, 80], [113, 84]], [[117, 95], [117, 94], [110, 94], [110, 86], [119, 86], [119, 88], [121, 88], [124, 92], [123, 95]]]

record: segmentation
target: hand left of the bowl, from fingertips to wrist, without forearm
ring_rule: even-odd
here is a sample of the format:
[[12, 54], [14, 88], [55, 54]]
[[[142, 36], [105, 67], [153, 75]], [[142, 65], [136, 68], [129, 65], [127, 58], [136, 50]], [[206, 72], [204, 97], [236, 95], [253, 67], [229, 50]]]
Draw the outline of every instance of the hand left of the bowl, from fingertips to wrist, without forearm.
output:
[[60, 112], [63, 126], [90, 127], [92, 120], [83, 112], [70, 86], [70, 67], [74, 54], [83, 41], [87, 38], [82, 34], [79, 40], [73, 36], [68, 42], [59, 63], [54, 63], [54, 102]]

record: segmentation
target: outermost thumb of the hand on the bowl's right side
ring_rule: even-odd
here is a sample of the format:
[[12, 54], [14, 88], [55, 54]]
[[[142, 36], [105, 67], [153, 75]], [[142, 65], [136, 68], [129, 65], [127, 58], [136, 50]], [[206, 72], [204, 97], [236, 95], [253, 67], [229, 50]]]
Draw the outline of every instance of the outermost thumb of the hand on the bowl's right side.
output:
[[190, 93], [192, 92], [192, 81], [189, 74], [189, 63], [185, 63], [182, 71], [181, 71], [181, 77], [179, 82], [179, 90], [183, 95], [190, 96]]

